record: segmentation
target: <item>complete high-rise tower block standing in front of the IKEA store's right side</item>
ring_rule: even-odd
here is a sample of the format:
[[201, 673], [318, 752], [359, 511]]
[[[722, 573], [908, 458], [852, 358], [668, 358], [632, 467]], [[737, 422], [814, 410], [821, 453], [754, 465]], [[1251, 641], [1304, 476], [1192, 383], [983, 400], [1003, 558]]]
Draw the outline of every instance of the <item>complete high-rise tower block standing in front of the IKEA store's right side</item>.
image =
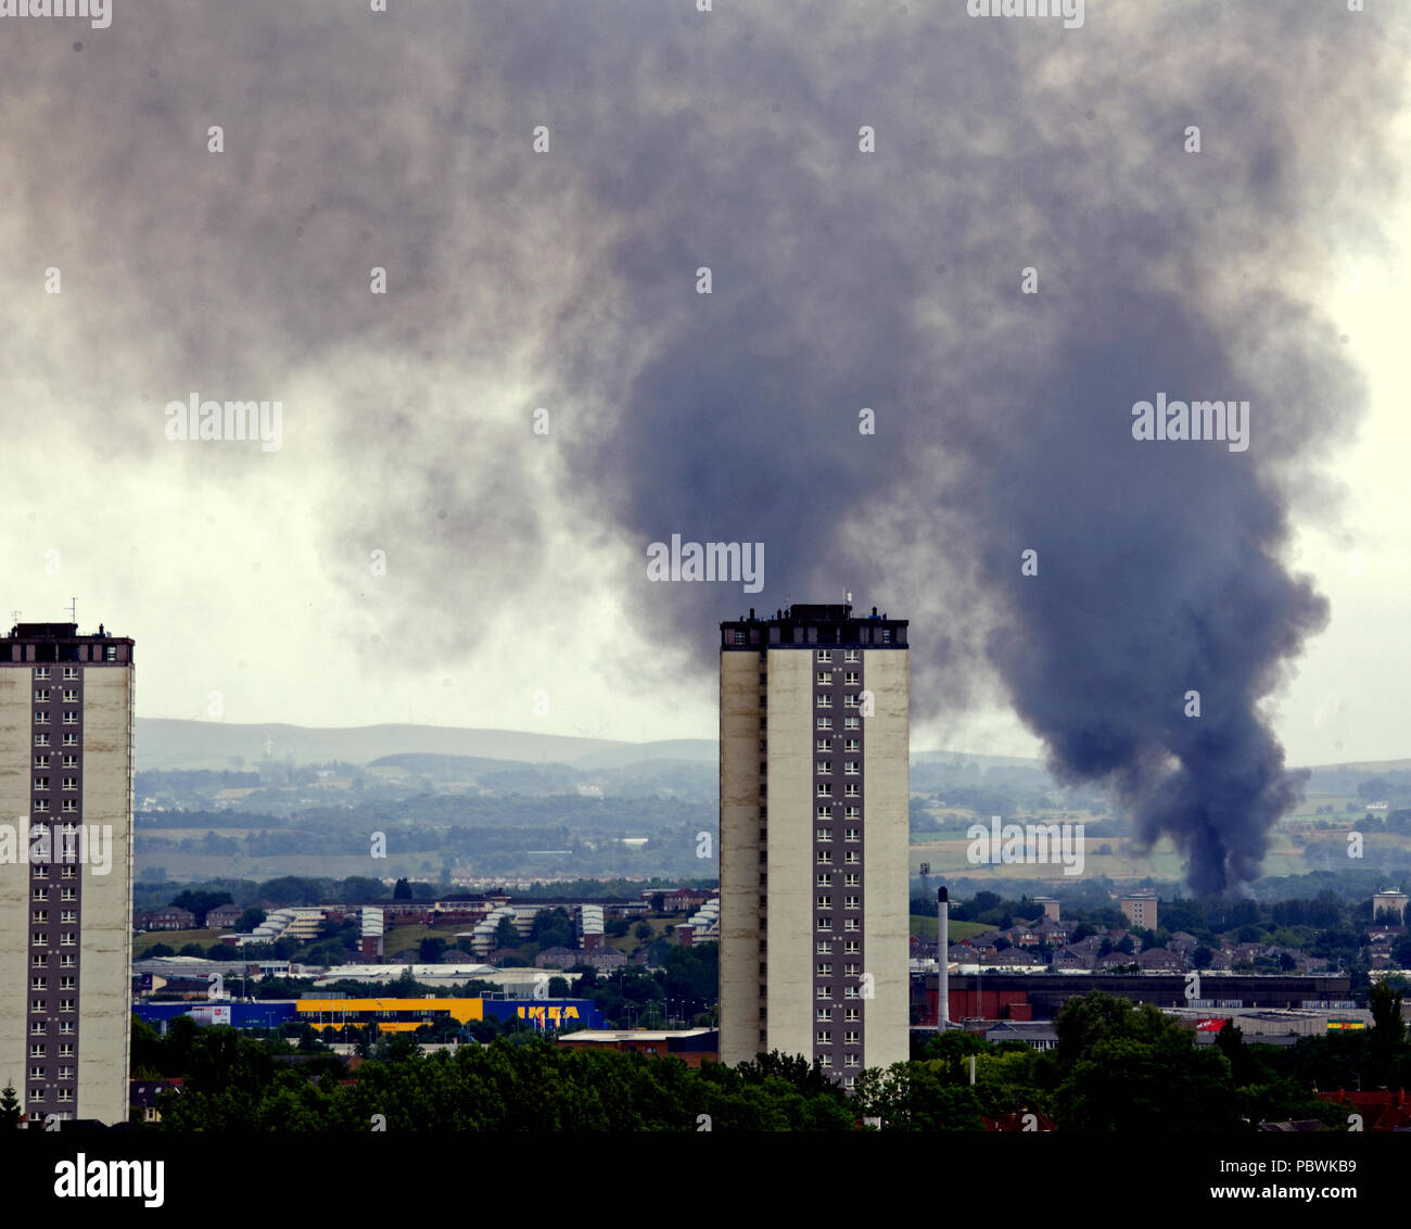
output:
[[722, 622], [721, 1061], [909, 1057], [906, 619]]

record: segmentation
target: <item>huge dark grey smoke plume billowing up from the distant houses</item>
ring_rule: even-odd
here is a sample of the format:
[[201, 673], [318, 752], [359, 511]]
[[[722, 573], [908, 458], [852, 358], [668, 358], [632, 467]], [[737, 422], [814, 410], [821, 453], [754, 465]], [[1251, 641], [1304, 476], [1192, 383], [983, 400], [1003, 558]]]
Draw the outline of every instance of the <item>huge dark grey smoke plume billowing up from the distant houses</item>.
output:
[[[25, 374], [102, 406], [130, 464], [172, 396], [315, 380], [337, 409], [279, 463], [346, 477], [329, 566], [405, 562], [388, 619], [430, 652], [552, 591], [556, 532], [605, 543], [703, 679], [715, 619], [847, 586], [913, 619], [917, 717], [998, 679], [1194, 888], [1254, 876], [1297, 789], [1260, 704], [1328, 618], [1291, 500], [1364, 396], [1318, 288], [1394, 186], [1407, 17], [389, 7], [144, 0], [82, 52], [4, 31], [11, 247], [85, 285]], [[1133, 442], [1160, 391], [1250, 401], [1249, 452]], [[672, 533], [763, 542], [765, 591], [650, 584]]]

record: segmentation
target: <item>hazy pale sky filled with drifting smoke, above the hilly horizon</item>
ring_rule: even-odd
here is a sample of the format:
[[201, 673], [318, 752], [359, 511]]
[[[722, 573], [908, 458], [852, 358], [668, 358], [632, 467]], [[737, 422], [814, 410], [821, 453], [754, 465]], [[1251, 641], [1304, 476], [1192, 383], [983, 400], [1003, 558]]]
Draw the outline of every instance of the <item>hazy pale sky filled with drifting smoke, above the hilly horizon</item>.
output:
[[[1204, 660], [1156, 567], [1291, 762], [1411, 756], [1405, 6], [387, 7], [0, 18], [7, 624], [76, 597], [148, 717], [650, 739], [714, 737], [717, 621], [851, 588], [917, 748], [1026, 755], [1089, 673], [1037, 545], [1101, 703]], [[1133, 442], [1161, 391], [1249, 452]], [[762, 591], [652, 583], [672, 533]]]

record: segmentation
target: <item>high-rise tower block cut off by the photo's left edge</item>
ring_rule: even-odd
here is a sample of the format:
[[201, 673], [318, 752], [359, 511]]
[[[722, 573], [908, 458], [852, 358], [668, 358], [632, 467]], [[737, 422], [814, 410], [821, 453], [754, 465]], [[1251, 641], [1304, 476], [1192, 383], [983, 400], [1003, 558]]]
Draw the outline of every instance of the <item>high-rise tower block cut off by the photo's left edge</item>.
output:
[[133, 641], [0, 636], [0, 1086], [30, 1120], [127, 1120]]

